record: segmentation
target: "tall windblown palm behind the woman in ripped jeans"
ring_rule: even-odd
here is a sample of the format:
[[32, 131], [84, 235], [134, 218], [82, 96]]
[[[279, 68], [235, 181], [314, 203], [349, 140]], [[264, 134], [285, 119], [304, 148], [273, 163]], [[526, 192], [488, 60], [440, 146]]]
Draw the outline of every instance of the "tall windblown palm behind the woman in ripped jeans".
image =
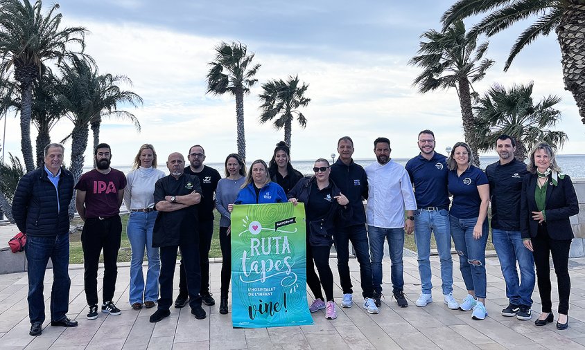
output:
[[[487, 50], [487, 42], [478, 46], [478, 37], [467, 35], [463, 21], [455, 21], [441, 33], [428, 30], [421, 38], [418, 53], [410, 59], [409, 64], [423, 68], [413, 82], [420, 93], [435, 89], [455, 88], [461, 115], [465, 142], [473, 141], [473, 111], [471, 109], [471, 83], [482, 80], [485, 72], [494, 64], [491, 59], [482, 59]], [[475, 165], [480, 165], [478, 150], [473, 149]]]

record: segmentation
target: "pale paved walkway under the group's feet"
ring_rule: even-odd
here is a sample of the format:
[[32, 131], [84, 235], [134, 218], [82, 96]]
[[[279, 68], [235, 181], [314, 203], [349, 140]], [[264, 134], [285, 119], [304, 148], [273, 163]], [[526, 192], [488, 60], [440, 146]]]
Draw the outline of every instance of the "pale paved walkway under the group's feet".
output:
[[[390, 262], [384, 261], [383, 264], [387, 277]], [[350, 265], [354, 285], [359, 286], [357, 261], [351, 259]], [[334, 259], [331, 259], [331, 266], [335, 266]], [[355, 303], [352, 308], [338, 308], [337, 320], [325, 320], [320, 311], [313, 314], [315, 324], [312, 326], [270, 329], [232, 329], [231, 313], [220, 315], [217, 305], [205, 306], [208, 312], [205, 320], [195, 320], [189, 308], [171, 308], [171, 317], [152, 324], [148, 322], [148, 316], [155, 308], [133, 311], [128, 305], [128, 264], [119, 268], [116, 285], [115, 299], [123, 310], [122, 315], [102, 313], [97, 320], [89, 321], [85, 318], [83, 269], [71, 266], [69, 317], [78, 320], [79, 326], [64, 329], [49, 326], [47, 321], [43, 334], [36, 338], [28, 335], [26, 273], [0, 275], [0, 349], [585, 349], [585, 259], [570, 261], [573, 288], [569, 329], [566, 331], [557, 331], [555, 323], [534, 326], [536, 312], [532, 321], [500, 315], [503, 306], [507, 306], [507, 299], [495, 257], [487, 260], [489, 317], [483, 321], [474, 321], [471, 313], [451, 311], [443, 304], [436, 257], [432, 266], [435, 302], [424, 308], [414, 306], [420, 291], [419, 273], [416, 258], [407, 257], [404, 277], [405, 294], [410, 302], [408, 308], [399, 308], [388, 292], [378, 315], [369, 315]], [[464, 285], [456, 266], [458, 263], [453, 270], [455, 297], [462, 298]], [[219, 295], [220, 267], [221, 264], [211, 264], [211, 289], [216, 297]], [[339, 303], [342, 291], [336, 270], [333, 275], [336, 277], [335, 297]], [[554, 273], [552, 275], [554, 278]], [[45, 284], [47, 309], [49, 279], [50, 272]], [[392, 290], [388, 283], [383, 288]], [[553, 287], [553, 297], [556, 293]], [[357, 301], [361, 300], [359, 294], [354, 294]], [[540, 311], [537, 292], [533, 298], [534, 310]], [[553, 309], [556, 307], [557, 303], [554, 303]]]

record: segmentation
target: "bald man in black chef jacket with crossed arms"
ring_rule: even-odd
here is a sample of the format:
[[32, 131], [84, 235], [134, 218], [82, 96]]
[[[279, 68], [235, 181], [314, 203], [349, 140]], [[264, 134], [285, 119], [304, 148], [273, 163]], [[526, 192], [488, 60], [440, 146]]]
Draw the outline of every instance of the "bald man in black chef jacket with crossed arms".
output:
[[152, 231], [152, 246], [160, 247], [161, 297], [150, 322], [159, 322], [171, 315], [173, 275], [177, 264], [177, 249], [181, 250], [189, 306], [195, 318], [202, 320], [206, 313], [201, 307], [201, 272], [199, 267], [198, 203], [201, 201], [199, 178], [184, 173], [185, 160], [175, 152], [168, 156], [166, 167], [170, 175], [155, 184], [155, 209], [159, 211]]

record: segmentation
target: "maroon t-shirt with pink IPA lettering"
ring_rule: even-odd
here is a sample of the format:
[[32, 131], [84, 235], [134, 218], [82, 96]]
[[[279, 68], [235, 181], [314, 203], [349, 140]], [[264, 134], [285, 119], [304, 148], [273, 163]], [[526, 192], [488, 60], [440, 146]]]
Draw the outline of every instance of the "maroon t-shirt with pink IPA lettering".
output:
[[85, 191], [85, 217], [113, 217], [119, 214], [118, 191], [126, 187], [126, 176], [113, 169], [102, 174], [93, 169], [81, 176], [76, 190]]

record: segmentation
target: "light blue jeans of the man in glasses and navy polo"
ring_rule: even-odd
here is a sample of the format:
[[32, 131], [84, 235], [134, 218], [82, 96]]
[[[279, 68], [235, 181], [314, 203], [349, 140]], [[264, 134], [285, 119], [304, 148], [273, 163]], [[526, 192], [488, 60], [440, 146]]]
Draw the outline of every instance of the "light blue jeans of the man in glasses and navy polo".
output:
[[435, 242], [441, 262], [443, 295], [453, 293], [453, 259], [451, 259], [451, 224], [448, 210], [416, 210], [414, 212], [414, 242], [417, 243], [419, 274], [422, 293], [430, 294], [433, 273], [430, 271], [430, 235], [435, 233]]

